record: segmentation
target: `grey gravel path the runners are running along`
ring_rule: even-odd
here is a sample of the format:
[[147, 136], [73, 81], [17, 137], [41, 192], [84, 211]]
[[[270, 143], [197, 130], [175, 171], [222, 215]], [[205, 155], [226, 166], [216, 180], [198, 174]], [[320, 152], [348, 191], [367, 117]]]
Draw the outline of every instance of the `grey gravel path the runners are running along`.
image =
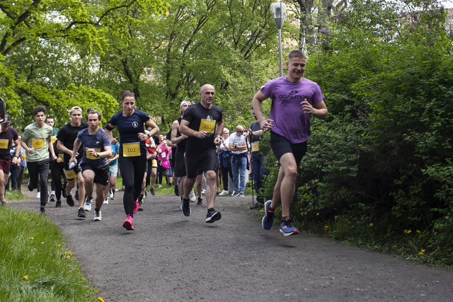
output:
[[[27, 192], [28, 193], [28, 192]], [[8, 207], [38, 212], [39, 200]], [[453, 272], [369, 252], [326, 238], [284, 237], [250, 214], [251, 197], [217, 197], [183, 216], [178, 197], [144, 200], [125, 231], [122, 193], [102, 221], [76, 219], [76, 207], [47, 204], [71, 252], [104, 301], [452, 301]], [[256, 211], [256, 210], [255, 210]]]

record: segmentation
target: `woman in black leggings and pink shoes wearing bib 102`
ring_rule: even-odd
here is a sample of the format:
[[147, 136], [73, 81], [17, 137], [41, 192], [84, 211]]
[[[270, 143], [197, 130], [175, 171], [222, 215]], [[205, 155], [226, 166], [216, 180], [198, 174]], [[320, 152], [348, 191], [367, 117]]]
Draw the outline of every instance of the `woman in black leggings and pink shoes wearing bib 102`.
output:
[[[121, 95], [122, 111], [113, 115], [105, 126], [105, 134], [111, 144], [117, 142], [112, 136], [112, 130], [118, 127], [120, 134], [120, 158], [118, 158], [122, 183], [125, 193], [122, 202], [125, 207], [126, 219], [122, 226], [127, 231], [134, 230], [134, 214], [137, 213], [139, 204], [137, 198], [142, 192], [142, 182], [147, 168], [146, 139], [159, 132], [159, 127], [151, 120], [151, 117], [141, 110], [135, 109], [135, 96], [130, 91]], [[148, 134], [144, 132], [144, 124], [151, 127]]]

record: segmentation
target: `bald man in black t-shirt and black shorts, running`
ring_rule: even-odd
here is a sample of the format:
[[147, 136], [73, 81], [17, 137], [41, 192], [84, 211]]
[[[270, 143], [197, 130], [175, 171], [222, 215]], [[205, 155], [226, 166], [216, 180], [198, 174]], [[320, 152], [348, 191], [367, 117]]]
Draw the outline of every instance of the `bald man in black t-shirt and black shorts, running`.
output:
[[215, 168], [217, 166], [216, 145], [224, 129], [222, 110], [213, 105], [214, 86], [205, 84], [200, 89], [200, 103], [190, 105], [185, 110], [179, 127], [182, 134], [188, 136], [185, 145], [185, 172], [183, 214], [190, 216], [189, 192], [197, 178], [197, 169], [202, 165], [206, 177], [207, 214], [205, 221], [212, 223], [222, 218], [222, 214], [214, 209], [217, 193]]

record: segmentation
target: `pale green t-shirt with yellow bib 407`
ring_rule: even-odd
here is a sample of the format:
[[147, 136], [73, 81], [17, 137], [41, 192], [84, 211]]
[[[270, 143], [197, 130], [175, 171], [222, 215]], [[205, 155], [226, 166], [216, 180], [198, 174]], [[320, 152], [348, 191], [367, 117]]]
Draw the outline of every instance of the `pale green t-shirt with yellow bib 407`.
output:
[[49, 142], [47, 139], [52, 137], [52, 127], [44, 124], [42, 128], [36, 126], [36, 123], [29, 124], [25, 127], [22, 134], [22, 140], [25, 141], [28, 148], [33, 148], [33, 154], [27, 152], [27, 161], [42, 161], [49, 158]]

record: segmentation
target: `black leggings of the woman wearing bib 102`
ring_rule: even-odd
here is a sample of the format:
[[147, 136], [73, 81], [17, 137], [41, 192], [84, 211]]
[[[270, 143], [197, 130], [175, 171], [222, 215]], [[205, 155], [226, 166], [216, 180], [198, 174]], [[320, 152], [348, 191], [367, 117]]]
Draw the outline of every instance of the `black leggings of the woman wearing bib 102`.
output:
[[147, 168], [147, 156], [123, 157], [122, 154], [118, 158], [120, 172], [122, 177], [122, 185], [125, 186], [125, 194], [122, 198], [126, 215], [134, 216], [134, 201], [137, 200], [142, 192], [142, 183], [145, 170]]

